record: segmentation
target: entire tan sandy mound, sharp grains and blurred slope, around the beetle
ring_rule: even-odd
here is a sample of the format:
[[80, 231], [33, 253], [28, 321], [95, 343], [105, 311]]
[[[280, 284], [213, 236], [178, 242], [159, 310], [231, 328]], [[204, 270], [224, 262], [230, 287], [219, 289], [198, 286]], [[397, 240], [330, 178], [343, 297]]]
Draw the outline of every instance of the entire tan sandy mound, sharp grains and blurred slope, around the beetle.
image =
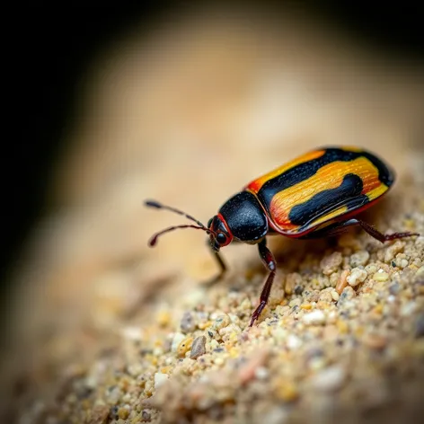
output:
[[[14, 277], [2, 422], [400, 422], [423, 412], [424, 236], [270, 242], [265, 270], [146, 198], [204, 222], [312, 148], [366, 146], [398, 174], [365, 216], [424, 234], [422, 67], [292, 16], [199, 13], [118, 40], [85, 81], [52, 213]], [[421, 402], [422, 403], [422, 402]]]

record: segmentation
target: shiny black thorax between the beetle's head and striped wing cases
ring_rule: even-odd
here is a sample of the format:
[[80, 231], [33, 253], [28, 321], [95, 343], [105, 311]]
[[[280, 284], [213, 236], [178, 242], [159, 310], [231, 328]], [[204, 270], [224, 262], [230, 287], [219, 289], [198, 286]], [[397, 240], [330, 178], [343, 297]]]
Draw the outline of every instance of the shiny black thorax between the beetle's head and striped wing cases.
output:
[[241, 191], [219, 209], [227, 229], [243, 243], [258, 243], [268, 232], [268, 219], [259, 200], [249, 191]]

